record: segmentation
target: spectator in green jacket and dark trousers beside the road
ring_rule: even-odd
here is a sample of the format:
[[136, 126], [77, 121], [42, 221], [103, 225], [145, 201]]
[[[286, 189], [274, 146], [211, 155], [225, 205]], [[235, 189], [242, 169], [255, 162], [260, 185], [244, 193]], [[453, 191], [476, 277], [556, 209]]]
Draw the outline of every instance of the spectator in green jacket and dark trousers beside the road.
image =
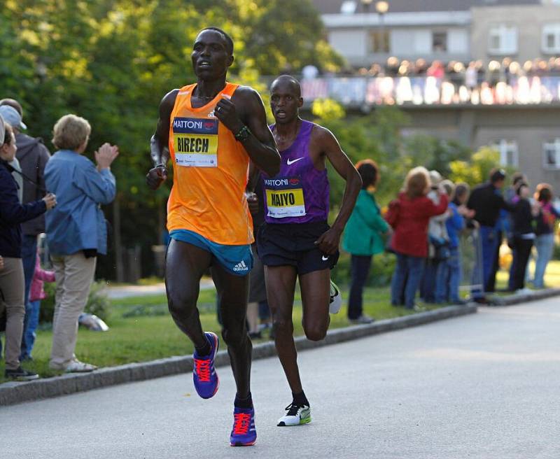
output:
[[374, 190], [379, 181], [377, 164], [373, 160], [363, 160], [356, 164], [362, 178], [362, 190], [352, 211], [342, 246], [351, 253], [351, 287], [348, 298], [348, 319], [351, 323], [371, 323], [373, 319], [363, 313], [363, 288], [370, 272], [373, 255], [385, 248], [382, 234], [389, 231], [389, 225], [381, 216], [375, 202]]

